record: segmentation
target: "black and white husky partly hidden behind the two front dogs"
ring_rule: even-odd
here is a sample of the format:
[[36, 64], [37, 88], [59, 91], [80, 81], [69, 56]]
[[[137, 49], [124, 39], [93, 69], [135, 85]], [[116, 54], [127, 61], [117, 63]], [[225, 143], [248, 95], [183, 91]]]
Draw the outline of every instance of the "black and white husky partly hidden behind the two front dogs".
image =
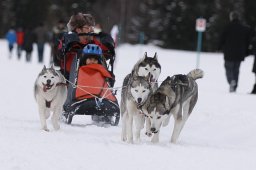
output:
[[153, 91], [155, 91], [158, 87], [157, 80], [161, 73], [161, 65], [158, 62], [157, 53], [154, 54], [154, 57], [148, 57], [147, 52], [145, 52], [144, 56], [134, 65], [132, 72], [126, 78], [129, 79], [132, 77], [132, 74], [146, 77], [149, 73], [149, 81], [151, 82]]

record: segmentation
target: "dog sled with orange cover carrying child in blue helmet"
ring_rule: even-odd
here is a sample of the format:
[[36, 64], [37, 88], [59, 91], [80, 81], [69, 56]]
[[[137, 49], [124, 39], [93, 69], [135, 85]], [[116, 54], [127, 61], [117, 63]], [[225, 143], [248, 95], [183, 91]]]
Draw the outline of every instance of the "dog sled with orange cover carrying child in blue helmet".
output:
[[[95, 44], [88, 44], [83, 49], [74, 50], [72, 45], [77, 46], [79, 42], [77, 38], [73, 40], [66, 42], [67, 49], [65, 49], [65, 52], [70, 50], [72, 53], [75, 52], [69, 70], [68, 96], [63, 106], [66, 123], [71, 124], [75, 115], [92, 115], [92, 120], [94, 116], [98, 116], [101, 119], [108, 119], [107, 121], [112, 126], [117, 126], [120, 108], [113, 89], [114, 61], [107, 63], [100, 52], [101, 48]], [[99, 49], [95, 52], [96, 47]], [[88, 54], [95, 55], [96, 53], [101, 57], [98, 60], [100, 63], [84, 64]]]

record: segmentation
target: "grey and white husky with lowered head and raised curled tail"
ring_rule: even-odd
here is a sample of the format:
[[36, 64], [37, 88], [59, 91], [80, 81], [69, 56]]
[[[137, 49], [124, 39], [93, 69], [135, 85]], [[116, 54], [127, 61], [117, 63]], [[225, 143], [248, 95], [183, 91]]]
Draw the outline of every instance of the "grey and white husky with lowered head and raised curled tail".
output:
[[171, 115], [174, 118], [174, 129], [170, 142], [177, 142], [197, 102], [198, 86], [195, 80], [202, 78], [203, 74], [202, 70], [194, 69], [187, 75], [168, 76], [150, 96], [143, 107], [143, 112], [147, 115], [150, 121], [150, 131], [154, 134], [151, 142], [159, 142], [160, 127], [168, 125]]

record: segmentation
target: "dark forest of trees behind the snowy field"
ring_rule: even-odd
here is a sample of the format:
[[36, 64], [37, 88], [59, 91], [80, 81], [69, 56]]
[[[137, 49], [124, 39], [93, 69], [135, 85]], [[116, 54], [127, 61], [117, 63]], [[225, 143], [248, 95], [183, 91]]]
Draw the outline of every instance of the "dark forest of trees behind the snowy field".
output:
[[229, 13], [255, 29], [255, 0], [1, 0], [0, 37], [10, 27], [36, 27], [49, 31], [59, 20], [68, 22], [76, 12], [91, 13], [105, 32], [119, 27], [119, 43], [154, 44], [163, 48], [196, 49], [197, 18], [205, 18], [203, 51], [217, 51]]

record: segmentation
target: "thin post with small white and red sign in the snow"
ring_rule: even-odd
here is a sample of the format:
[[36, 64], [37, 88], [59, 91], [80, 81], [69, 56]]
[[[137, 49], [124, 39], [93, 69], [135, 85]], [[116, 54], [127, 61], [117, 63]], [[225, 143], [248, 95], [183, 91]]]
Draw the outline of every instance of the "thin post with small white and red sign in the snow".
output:
[[198, 32], [197, 35], [197, 58], [196, 58], [196, 68], [199, 68], [200, 63], [200, 52], [202, 49], [202, 34], [206, 28], [206, 19], [198, 18], [196, 19], [196, 31]]

